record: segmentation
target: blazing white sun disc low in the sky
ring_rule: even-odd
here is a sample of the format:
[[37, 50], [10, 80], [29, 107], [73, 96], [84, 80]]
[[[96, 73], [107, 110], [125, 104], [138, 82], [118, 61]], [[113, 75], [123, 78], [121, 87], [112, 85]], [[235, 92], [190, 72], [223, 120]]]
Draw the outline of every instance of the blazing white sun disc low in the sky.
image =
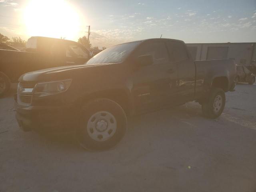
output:
[[78, 11], [65, 0], [31, 0], [24, 9], [28, 36], [75, 40], [80, 31]]

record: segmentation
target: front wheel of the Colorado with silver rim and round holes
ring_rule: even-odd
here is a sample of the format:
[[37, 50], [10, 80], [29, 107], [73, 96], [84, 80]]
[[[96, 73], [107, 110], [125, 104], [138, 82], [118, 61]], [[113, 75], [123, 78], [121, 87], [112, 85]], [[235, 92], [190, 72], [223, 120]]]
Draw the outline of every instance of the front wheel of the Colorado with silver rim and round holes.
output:
[[113, 148], [124, 137], [127, 117], [122, 107], [110, 99], [96, 99], [82, 108], [76, 138], [91, 151]]

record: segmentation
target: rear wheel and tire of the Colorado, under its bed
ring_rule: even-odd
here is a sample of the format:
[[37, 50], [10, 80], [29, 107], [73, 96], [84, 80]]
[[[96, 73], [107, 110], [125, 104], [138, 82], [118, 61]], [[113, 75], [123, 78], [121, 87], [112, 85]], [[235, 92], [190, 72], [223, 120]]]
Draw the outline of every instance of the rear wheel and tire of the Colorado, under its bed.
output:
[[212, 88], [209, 97], [202, 103], [202, 113], [207, 118], [215, 119], [222, 114], [225, 103], [225, 92], [220, 88]]

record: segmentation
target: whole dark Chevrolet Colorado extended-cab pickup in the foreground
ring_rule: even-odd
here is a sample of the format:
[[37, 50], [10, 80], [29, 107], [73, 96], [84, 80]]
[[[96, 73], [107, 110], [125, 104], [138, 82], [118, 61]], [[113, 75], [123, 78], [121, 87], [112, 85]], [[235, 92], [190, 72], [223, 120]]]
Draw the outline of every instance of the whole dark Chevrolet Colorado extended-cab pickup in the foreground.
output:
[[84, 148], [105, 150], [124, 136], [127, 116], [197, 101], [217, 118], [235, 77], [234, 60], [194, 62], [180, 40], [129, 42], [84, 65], [22, 75], [16, 119], [25, 131], [76, 132]]

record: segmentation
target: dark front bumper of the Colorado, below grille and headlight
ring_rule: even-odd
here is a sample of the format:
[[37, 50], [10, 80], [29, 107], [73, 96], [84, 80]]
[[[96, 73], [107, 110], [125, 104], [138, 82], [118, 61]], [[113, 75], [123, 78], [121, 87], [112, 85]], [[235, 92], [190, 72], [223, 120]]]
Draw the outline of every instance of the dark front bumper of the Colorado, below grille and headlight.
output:
[[16, 120], [24, 131], [41, 133], [74, 132], [78, 110], [72, 106], [21, 106], [15, 102]]

